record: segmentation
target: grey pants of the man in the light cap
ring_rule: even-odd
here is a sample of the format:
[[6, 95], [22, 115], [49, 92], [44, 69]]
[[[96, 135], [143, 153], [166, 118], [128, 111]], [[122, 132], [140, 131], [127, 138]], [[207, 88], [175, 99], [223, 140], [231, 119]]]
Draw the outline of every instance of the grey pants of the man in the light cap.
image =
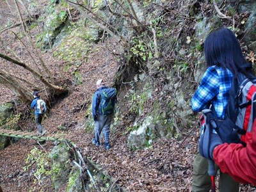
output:
[[109, 129], [113, 115], [98, 115], [94, 127], [94, 138], [100, 141], [100, 133], [103, 131], [105, 143], [109, 143]]

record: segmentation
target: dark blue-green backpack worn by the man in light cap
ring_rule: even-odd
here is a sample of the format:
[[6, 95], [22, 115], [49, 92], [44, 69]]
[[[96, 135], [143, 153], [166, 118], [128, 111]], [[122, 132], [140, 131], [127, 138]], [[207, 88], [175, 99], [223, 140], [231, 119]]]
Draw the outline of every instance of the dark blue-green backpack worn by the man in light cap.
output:
[[106, 88], [100, 92], [100, 110], [102, 115], [113, 113], [115, 108], [116, 88]]

